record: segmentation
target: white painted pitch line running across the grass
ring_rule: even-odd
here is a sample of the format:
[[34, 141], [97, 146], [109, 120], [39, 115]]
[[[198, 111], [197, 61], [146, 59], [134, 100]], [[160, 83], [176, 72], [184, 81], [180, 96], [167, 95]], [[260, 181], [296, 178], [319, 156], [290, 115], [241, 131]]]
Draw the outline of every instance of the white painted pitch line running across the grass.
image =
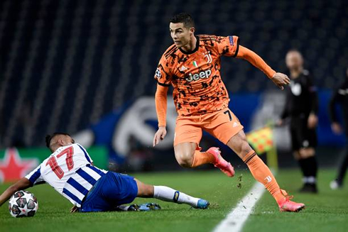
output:
[[252, 213], [256, 202], [262, 197], [264, 191], [265, 187], [256, 182], [231, 213], [214, 228], [214, 232], [241, 231], [246, 219]]

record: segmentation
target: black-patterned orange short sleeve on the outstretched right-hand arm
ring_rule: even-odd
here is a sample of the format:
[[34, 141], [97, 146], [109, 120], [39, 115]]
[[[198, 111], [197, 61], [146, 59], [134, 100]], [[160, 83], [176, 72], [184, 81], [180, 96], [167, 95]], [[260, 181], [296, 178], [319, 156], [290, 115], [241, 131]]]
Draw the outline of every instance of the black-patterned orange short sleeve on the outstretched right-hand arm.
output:
[[217, 37], [217, 50], [219, 55], [236, 57], [239, 50], [239, 38], [235, 35]]

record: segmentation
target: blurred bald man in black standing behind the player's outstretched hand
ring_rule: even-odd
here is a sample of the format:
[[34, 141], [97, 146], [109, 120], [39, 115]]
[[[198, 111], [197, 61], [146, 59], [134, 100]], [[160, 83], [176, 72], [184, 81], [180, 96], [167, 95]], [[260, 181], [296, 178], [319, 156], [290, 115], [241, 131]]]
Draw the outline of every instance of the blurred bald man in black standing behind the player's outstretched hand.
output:
[[286, 89], [286, 105], [279, 124], [290, 119], [293, 155], [303, 172], [300, 192], [317, 193], [317, 91], [308, 70], [303, 69], [303, 57], [298, 50], [286, 54], [286, 66], [290, 71], [290, 86]]

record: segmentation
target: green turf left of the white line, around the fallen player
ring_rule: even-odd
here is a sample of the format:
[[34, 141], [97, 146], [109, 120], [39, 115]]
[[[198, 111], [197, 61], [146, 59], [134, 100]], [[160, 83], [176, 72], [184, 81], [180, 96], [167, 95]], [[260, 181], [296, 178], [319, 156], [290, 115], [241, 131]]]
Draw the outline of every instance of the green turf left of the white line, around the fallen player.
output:
[[[190, 209], [190, 206], [184, 204], [136, 199], [137, 203], [158, 202], [162, 209], [149, 212], [70, 214], [70, 202], [44, 184], [28, 189], [38, 198], [36, 216], [12, 218], [4, 205], [0, 208], [0, 228], [5, 228], [5, 231], [10, 228], [47, 231], [48, 226], [55, 231], [212, 231], [253, 183], [247, 175], [243, 177], [243, 186], [239, 189], [236, 187], [239, 182], [237, 178], [231, 179], [221, 172], [170, 172], [134, 176], [142, 182], [167, 185], [192, 196], [209, 199], [212, 206], [208, 210], [199, 210]], [[0, 191], [4, 191], [5, 187], [0, 186]]]

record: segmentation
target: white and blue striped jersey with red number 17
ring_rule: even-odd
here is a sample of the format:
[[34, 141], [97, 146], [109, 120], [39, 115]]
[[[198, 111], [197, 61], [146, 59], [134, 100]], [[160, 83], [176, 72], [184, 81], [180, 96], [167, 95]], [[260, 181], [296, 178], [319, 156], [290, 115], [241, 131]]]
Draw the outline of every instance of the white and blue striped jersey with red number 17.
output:
[[77, 207], [97, 180], [107, 171], [92, 166], [92, 159], [80, 144], [60, 147], [26, 175], [31, 184], [48, 183]]

